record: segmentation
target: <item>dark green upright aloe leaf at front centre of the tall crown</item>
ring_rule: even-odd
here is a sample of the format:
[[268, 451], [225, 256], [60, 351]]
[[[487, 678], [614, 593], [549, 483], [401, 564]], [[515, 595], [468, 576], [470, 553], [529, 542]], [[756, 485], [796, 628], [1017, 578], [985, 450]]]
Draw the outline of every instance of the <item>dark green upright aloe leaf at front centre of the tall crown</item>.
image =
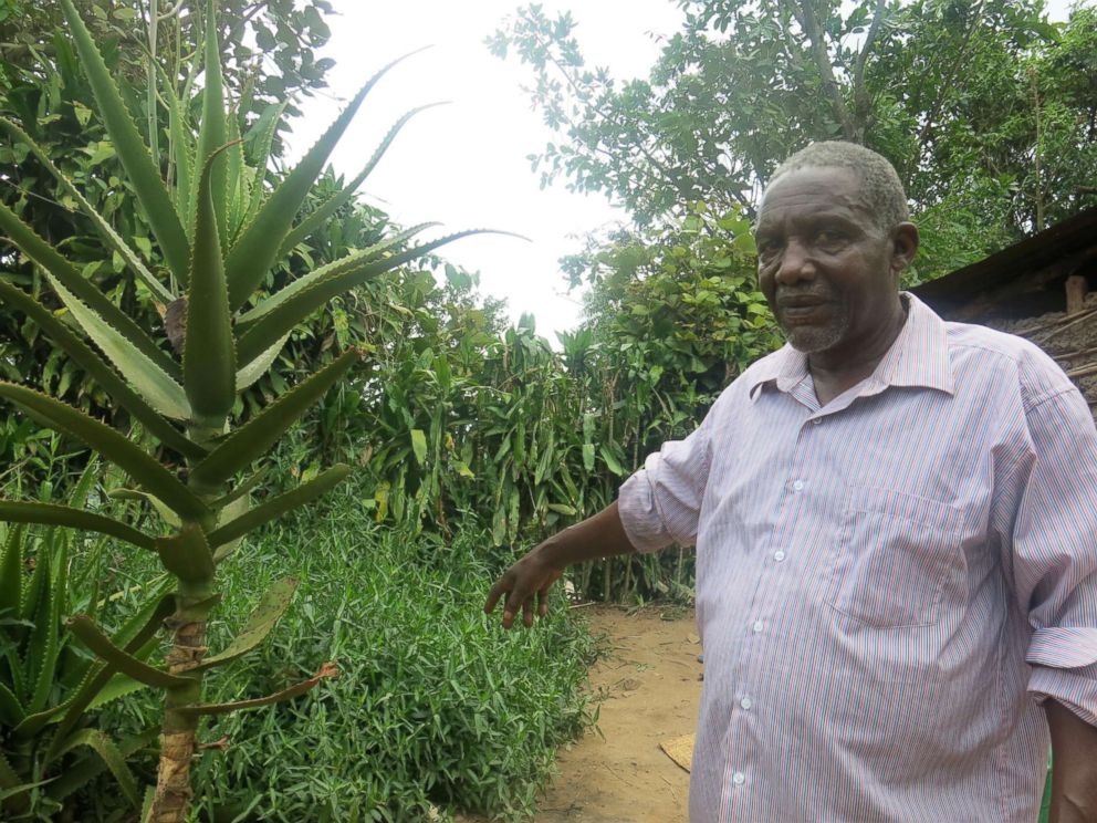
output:
[[218, 152], [206, 162], [198, 183], [187, 342], [182, 351], [182, 377], [190, 406], [201, 419], [213, 421], [223, 420], [232, 409], [237, 372], [229, 293], [218, 239], [219, 218], [210, 191]]

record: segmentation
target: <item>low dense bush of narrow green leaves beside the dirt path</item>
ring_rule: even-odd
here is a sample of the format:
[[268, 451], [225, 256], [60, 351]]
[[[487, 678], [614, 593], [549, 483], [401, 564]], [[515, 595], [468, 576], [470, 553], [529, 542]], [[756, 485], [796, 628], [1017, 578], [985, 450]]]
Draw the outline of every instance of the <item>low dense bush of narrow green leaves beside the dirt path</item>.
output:
[[[208, 679], [211, 699], [283, 688], [328, 659], [341, 675], [323, 694], [219, 720], [227, 748], [196, 764], [196, 809], [218, 821], [531, 815], [556, 747], [591, 719], [581, 687], [596, 643], [562, 603], [537, 632], [502, 632], [480, 611], [498, 571], [488, 534], [409, 540], [376, 525], [362, 493], [270, 528], [228, 573], [226, 615], [245, 614], [279, 574], [302, 583], [265, 652]], [[215, 643], [238, 628], [210, 626]], [[123, 706], [112, 725], [155, 712], [149, 695]]]

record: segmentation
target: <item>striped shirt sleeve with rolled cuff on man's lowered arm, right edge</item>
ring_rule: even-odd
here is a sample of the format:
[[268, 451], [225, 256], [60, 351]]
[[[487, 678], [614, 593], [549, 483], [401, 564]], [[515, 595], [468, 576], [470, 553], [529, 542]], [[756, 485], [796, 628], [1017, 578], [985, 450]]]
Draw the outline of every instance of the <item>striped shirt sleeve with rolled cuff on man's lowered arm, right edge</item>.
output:
[[1097, 430], [1070, 387], [1026, 413], [1032, 459], [1014, 521], [1028, 690], [1097, 726]]

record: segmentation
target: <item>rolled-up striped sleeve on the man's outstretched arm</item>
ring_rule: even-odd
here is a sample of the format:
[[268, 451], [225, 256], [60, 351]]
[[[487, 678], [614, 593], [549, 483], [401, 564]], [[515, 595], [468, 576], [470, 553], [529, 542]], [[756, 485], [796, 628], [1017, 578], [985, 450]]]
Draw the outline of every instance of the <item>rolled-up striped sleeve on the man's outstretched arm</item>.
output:
[[692, 545], [711, 462], [711, 428], [718, 400], [701, 426], [685, 440], [670, 440], [644, 461], [620, 487], [617, 510], [629, 541], [639, 552], [671, 543]]

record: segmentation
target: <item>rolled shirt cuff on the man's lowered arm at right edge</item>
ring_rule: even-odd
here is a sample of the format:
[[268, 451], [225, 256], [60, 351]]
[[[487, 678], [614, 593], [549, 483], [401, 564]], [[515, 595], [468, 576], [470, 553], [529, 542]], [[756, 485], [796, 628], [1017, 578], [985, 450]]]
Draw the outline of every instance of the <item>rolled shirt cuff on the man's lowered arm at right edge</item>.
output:
[[1097, 726], [1097, 628], [1038, 628], [1025, 659], [1033, 666], [1030, 694], [1039, 702], [1052, 698]]

